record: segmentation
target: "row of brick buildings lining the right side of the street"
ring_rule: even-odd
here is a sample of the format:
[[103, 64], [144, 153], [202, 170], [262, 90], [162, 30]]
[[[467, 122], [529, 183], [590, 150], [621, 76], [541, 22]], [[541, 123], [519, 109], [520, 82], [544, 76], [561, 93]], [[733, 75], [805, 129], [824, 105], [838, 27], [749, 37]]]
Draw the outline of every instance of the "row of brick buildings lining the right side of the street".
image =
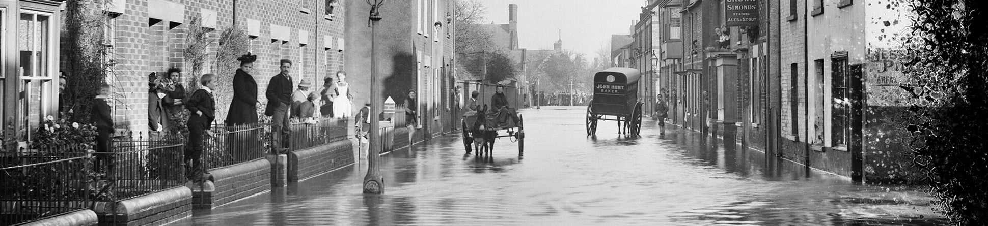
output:
[[757, 24], [729, 26], [724, 0], [683, 2], [682, 67], [663, 78], [671, 120], [855, 181], [915, 177], [895, 126], [895, 113], [905, 108], [896, 87], [905, 80], [894, 59], [902, 57], [908, 9], [847, 0], [736, 2], [757, 6]]

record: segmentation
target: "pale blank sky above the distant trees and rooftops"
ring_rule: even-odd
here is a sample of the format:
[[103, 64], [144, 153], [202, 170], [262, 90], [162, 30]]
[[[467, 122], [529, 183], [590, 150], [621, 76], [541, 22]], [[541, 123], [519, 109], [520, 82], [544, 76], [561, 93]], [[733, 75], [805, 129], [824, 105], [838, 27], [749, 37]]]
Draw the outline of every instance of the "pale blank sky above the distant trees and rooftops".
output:
[[611, 35], [629, 35], [646, 0], [480, 0], [488, 23], [508, 24], [508, 4], [518, 4], [519, 47], [552, 49], [562, 30], [562, 48], [592, 60]]

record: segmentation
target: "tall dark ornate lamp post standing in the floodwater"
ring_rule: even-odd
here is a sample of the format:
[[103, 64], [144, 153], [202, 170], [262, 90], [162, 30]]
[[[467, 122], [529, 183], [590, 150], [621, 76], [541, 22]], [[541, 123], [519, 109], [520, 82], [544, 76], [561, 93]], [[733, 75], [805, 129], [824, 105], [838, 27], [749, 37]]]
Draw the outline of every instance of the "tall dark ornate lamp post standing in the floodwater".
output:
[[380, 166], [377, 161], [380, 158], [380, 92], [377, 89], [377, 57], [374, 54], [373, 38], [377, 34], [377, 23], [380, 22], [380, 7], [385, 0], [368, 0], [371, 4], [371, 147], [368, 150], [368, 175], [364, 177], [364, 193], [383, 193], [384, 177], [380, 175]]

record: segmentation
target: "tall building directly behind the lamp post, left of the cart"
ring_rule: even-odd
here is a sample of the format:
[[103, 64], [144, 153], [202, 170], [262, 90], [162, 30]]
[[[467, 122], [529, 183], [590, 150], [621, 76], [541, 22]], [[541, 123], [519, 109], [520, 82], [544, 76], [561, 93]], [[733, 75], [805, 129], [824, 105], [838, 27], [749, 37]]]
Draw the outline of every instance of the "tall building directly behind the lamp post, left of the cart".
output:
[[[346, 70], [355, 77], [355, 105], [368, 103], [371, 90], [371, 6], [366, 1], [345, 1]], [[383, 18], [373, 38], [377, 73], [383, 87], [381, 97], [402, 103], [409, 90], [418, 93], [423, 130], [419, 139], [450, 131], [453, 99], [453, 1], [387, 1], [380, 9]], [[378, 100], [383, 102], [384, 100]], [[446, 119], [444, 119], [446, 118]], [[404, 128], [398, 128], [404, 129]]]

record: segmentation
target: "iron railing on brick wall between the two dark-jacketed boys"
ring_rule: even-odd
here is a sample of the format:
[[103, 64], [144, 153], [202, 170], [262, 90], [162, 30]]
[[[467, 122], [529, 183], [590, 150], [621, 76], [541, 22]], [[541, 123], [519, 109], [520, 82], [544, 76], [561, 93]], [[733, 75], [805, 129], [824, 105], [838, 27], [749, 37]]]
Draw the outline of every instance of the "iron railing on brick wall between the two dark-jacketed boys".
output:
[[95, 200], [119, 201], [186, 183], [181, 137], [116, 139], [111, 149], [94, 153]]

